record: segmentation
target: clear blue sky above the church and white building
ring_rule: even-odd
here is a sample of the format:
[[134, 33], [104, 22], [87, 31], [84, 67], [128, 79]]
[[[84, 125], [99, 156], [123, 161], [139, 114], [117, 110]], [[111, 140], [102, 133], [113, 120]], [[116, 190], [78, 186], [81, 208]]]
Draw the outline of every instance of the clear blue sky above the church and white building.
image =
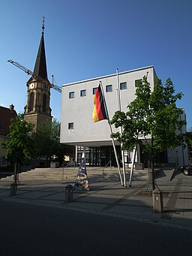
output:
[[[191, 0], [0, 0], [0, 105], [26, 105], [28, 75], [7, 62], [33, 71], [45, 17], [46, 64], [62, 86], [78, 80], [154, 65], [165, 83], [183, 92], [178, 107], [192, 127]], [[61, 94], [52, 89], [52, 116], [60, 120]]]

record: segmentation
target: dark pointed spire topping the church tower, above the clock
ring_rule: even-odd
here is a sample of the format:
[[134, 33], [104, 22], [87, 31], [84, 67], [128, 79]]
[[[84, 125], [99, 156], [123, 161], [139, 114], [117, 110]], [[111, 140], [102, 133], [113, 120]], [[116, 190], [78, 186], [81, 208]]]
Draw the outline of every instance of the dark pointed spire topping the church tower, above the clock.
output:
[[37, 59], [34, 65], [34, 75], [42, 77], [47, 80], [47, 71], [46, 71], [46, 56], [45, 56], [45, 46], [44, 46], [44, 17], [43, 17], [43, 26], [42, 26], [42, 35], [40, 38], [39, 50], [37, 53]]

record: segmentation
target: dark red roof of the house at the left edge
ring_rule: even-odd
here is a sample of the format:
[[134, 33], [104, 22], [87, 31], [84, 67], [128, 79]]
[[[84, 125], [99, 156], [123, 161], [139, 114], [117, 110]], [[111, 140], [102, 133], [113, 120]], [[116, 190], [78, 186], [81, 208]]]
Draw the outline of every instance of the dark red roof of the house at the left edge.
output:
[[10, 108], [0, 106], [0, 135], [6, 136], [10, 133], [10, 119], [16, 116], [17, 112], [14, 110], [13, 104], [10, 105]]

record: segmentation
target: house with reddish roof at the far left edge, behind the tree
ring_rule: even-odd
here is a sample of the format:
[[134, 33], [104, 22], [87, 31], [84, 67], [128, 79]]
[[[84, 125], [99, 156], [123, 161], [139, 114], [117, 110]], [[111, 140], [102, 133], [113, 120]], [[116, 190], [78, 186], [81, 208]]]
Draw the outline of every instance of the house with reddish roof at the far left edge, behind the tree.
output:
[[[0, 143], [8, 140], [8, 134], [10, 133], [10, 120], [17, 116], [17, 112], [14, 110], [13, 104], [7, 107], [0, 107]], [[0, 144], [0, 166], [7, 165], [5, 159], [6, 148]]]

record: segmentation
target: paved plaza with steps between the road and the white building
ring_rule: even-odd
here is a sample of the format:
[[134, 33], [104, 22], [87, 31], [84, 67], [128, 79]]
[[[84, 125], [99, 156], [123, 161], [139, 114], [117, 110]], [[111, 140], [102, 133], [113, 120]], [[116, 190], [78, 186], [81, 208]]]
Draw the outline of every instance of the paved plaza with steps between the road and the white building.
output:
[[90, 191], [74, 191], [70, 203], [65, 201], [65, 187], [74, 185], [77, 169], [71, 170], [72, 176], [66, 176], [62, 170], [62, 176], [57, 179], [48, 177], [48, 170], [44, 170], [44, 174], [38, 178], [33, 175], [33, 170], [28, 173], [20, 174], [15, 196], [10, 196], [13, 177], [0, 179], [0, 202], [33, 203], [192, 230], [192, 176], [184, 176], [179, 171], [172, 173], [172, 170], [160, 170], [157, 175], [157, 187], [163, 192], [162, 213], [153, 210], [147, 170], [135, 170], [131, 187], [127, 185], [124, 188], [115, 170], [108, 175], [104, 172], [96, 175], [90, 168]]

